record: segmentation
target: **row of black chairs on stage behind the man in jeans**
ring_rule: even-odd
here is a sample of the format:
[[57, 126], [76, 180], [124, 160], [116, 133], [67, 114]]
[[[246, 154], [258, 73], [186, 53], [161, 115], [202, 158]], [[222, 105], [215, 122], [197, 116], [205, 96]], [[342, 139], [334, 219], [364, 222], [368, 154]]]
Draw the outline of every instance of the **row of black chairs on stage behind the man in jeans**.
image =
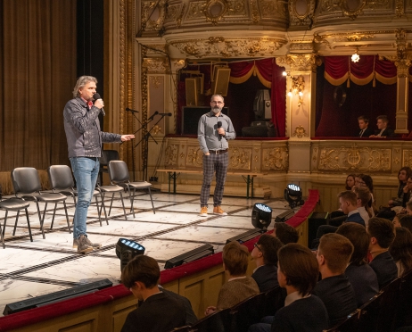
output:
[[[123, 207], [123, 213], [124, 213], [125, 219], [127, 219], [128, 217], [127, 217], [127, 213], [125, 209], [125, 204], [123, 201], [122, 191], [124, 190], [128, 191], [129, 200], [130, 200], [130, 212], [133, 212], [133, 216], [135, 217], [133, 203], [134, 203], [134, 198], [136, 195], [136, 190], [147, 189], [148, 194], [150, 195], [151, 203], [152, 203], [152, 210], [153, 210], [153, 213], [155, 213], [154, 204], [152, 201], [152, 193], [150, 190], [150, 187], [152, 187], [151, 183], [146, 182], [146, 181], [130, 182], [129, 173], [128, 173], [128, 165], [126, 164], [126, 162], [111, 161], [109, 162], [108, 170], [109, 170], [109, 176], [111, 178], [111, 185], [107, 185], [107, 186], [98, 185], [95, 188], [95, 192], [94, 192], [95, 203], [97, 207], [97, 214], [98, 214], [101, 226], [102, 226], [102, 220], [101, 220], [102, 210], [104, 212], [106, 223], [109, 224], [105, 205], [104, 205], [104, 195], [105, 194], [111, 194], [111, 206], [109, 210], [109, 215], [110, 215], [112, 203], [114, 200], [114, 195], [116, 193], [119, 193], [122, 207]], [[45, 238], [44, 222], [45, 222], [45, 214], [46, 214], [48, 203], [54, 203], [54, 213], [53, 213], [53, 219], [52, 219], [50, 229], [53, 228], [57, 204], [62, 203], [64, 206], [67, 227], [69, 229], [69, 233], [71, 233], [69, 215], [67, 213], [66, 199], [68, 198], [68, 196], [71, 196], [73, 198], [74, 204], [76, 205], [77, 203], [76, 197], [78, 195], [78, 192], [76, 188], [74, 187], [74, 180], [71, 174], [71, 170], [69, 166], [67, 165], [53, 165], [47, 169], [47, 173], [49, 176], [50, 185], [52, 187], [52, 193], [42, 191], [40, 178], [38, 176], [38, 172], [36, 169], [31, 168], [31, 167], [21, 167], [21, 168], [16, 168], [12, 170], [12, 186], [13, 186], [15, 197], [0, 201], [0, 210], [5, 211], [3, 229], [0, 223], [0, 237], [1, 237], [3, 248], [5, 248], [4, 232], [5, 232], [5, 227], [7, 225], [8, 212], [17, 212], [15, 223], [14, 223], [14, 228], [12, 232], [13, 236], [15, 235], [15, 232], [16, 232], [17, 222], [19, 220], [20, 212], [22, 210], [26, 212], [26, 219], [27, 219], [28, 228], [29, 228], [29, 237], [30, 237], [30, 241], [33, 242], [30, 221], [29, 221], [29, 212], [28, 212], [29, 202], [28, 201], [33, 201], [37, 205], [37, 214], [38, 214], [38, 219], [40, 220], [40, 230], [41, 230], [43, 238]], [[133, 191], [133, 195], [132, 195], [132, 191]], [[98, 202], [98, 196], [101, 197], [102, 203], [100, 204], [100, 206]], [[45, 209], [43, 212], [43, 216], [40, 213], [39, 202], [45, 203]]]

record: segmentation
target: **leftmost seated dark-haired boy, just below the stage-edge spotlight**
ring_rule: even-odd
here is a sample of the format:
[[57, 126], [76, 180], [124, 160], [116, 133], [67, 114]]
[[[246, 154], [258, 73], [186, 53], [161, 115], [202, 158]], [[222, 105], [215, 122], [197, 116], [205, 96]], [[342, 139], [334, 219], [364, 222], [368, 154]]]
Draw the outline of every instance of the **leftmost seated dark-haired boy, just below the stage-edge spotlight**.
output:
[[167, 332], [185, 325], [185, 304], [166, 295], [159, 287], [161, 270], [152, 257], [138, 255], [121, 271], [121, 282], [139, 301], [139, 307], [128, 313], [122, 332], [136, 329]]

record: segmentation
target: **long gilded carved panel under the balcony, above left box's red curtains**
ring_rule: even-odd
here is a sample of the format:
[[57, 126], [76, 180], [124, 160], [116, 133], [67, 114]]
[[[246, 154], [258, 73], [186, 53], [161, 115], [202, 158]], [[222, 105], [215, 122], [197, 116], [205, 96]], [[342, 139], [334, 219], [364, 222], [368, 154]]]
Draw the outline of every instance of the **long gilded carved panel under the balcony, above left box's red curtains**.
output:
[[204, 56], [272, 56], [286, 44], [284, 39], [276, 38], [225, 38], [192, 39], [170, 42], [171, 46], [195, 58]]

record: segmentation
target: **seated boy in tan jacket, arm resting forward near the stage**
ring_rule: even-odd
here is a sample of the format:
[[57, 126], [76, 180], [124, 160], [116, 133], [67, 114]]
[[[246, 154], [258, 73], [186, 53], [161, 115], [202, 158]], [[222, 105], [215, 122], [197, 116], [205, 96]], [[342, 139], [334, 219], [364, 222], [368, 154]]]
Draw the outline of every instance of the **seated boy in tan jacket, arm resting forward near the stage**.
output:
[[223, 269], [227, 274], [227, 283], [220, 288], [218, 293], [218, 304], [210, 306], [205, 314], [226, 309], [235, 304], [260, 293], [256, 281], [246, 276], [248, 269], [249, 251], [244, 245], [232, 241], [223, 247]]

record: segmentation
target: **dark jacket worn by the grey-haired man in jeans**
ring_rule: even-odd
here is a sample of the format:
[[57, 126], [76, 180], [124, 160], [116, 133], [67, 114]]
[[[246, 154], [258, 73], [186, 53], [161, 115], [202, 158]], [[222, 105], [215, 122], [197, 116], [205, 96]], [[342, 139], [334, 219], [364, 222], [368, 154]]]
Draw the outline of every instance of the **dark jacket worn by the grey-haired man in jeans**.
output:
[[101, 157], [102, 143], [121, 142], [119, 134], [100, 131], [100, 112], [95, 106], [89, 110], [87, 103], [79, 97], [71, 99], [64, 106], [64, 131], [69, 158]]

